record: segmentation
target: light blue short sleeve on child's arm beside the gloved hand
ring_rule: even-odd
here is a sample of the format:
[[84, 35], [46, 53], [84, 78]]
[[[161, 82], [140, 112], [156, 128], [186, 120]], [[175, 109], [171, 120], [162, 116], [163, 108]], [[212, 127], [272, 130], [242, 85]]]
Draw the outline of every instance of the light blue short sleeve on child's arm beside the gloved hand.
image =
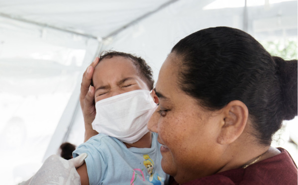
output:
[[100, 142], [89, 139], [87, 142], [79, 145], [73, 152], [73, 156], [77, 157], [82, 153], [87, 153], [85, 163], [87, 166], [87, 174], [90, 185], [97, 185], [103, 181], [107, 164], [101, 151]]

